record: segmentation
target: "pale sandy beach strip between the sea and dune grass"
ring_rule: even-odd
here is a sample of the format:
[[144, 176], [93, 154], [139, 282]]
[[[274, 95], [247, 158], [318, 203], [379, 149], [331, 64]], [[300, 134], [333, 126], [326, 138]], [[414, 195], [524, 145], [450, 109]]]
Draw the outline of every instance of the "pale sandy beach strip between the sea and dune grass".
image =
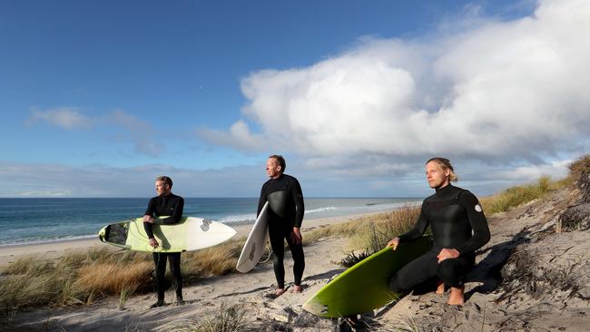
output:
[[[319, 218], [303, 220], [301, 232], [305, 235], [307, 230], [315, 229], [320, 226], [333, 225], [341, 222], [347, 222], [359, 218], [369, 217], [372, 215], [387, 213], [391, 210], [382, 211], [371, 211], [369, 213], [350, 214], [338, 217]], [[236, 226], [231, 226], [236, 230], [236, 235], [232, 239], [241, 239], [248, 237], [250, 234], [251, 226], [254, 223], [241, 223]], [[27, 256], [35, 256], [35, 259], [56, 259], [64, 255], [68, 250], [74, 249], [92, 249], [101, 246], [107, 246], [107, 248], [119, 249], [114, 246], [109, 246], [96, 238], [90, 239], [63, 239], [54, 240], [41, 243], [27, 243], [27, 244], [16, 244], [13, 246], [0, 247], [0, 267], [9, 265], [15, 262], [16, 259], [25, 258]]]

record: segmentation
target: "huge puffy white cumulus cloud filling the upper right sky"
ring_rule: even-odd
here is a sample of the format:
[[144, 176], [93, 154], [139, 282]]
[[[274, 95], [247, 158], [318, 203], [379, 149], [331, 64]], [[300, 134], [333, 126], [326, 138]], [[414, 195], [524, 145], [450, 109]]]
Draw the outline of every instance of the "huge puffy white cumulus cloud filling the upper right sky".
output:
[[241, 149], [272, 142], [310, 159], [374, 155], [403, 164], [443, 154], [538, 163], [588, 142], [588, 17], [585, 0], [546, 0], [509, 22], [482, 18], [419, 40], [365, 39], [305, 68], [251, 73], [241, 83], [244, 119], [202, 137]]

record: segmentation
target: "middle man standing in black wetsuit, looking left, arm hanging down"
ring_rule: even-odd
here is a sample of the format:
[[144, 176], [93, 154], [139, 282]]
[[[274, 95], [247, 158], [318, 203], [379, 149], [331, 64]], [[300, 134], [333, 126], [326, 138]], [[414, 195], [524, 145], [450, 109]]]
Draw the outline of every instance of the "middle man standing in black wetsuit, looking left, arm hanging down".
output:
[[266, 173], [270, 177], [262, 185], [261, 199], [258, 202], [258, 213], [269, 202], [269, 238], [270, 247], [274, 252], [274, 275], [277, 278], [276, 294], [285, 292], [285, 268], [283, 258], [285, 242], [287, 239], [290, 252], [293, 256], [293, 276], [295, 286], [291, 291], [301, 292], [301, 277], [305, 269], [303, 257], [303, 245], [301, 244], [300, 227], [305, 211], [303, 194], [299, 181], [294, 177], [284, 174], [286, 168], [285, 159], [280, 155], [271, 155], [266, 161]]

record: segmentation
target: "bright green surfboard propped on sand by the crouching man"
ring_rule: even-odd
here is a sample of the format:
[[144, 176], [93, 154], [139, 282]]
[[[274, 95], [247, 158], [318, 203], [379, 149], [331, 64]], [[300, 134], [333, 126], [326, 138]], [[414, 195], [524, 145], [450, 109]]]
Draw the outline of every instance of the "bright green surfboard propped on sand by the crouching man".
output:
[[423, 237], [401, 243], [395, 251], [382, 249], [331, 280], [303, 305], [303, 309], [320, 317], [335, 318], [383, 307], [401, 296], [389, 290], [389, 278], [431, 247], [432, 240]]

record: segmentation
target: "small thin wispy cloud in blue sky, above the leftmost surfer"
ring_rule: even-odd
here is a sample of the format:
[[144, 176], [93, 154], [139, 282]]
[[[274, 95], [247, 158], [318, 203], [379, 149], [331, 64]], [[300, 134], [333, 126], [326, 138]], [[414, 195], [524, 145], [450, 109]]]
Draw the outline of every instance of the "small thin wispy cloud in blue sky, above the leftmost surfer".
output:
[[146, 132], [153, 132], [149, 122], [145, 122], [133, 114], [122, 110], [113, 110], [104, 115], [90, 116], [76, 108], [54, 108], [38, 110], [33, 108], [31, 116], [25, 121], [27, 125], [46, 122], [66, 130], [107, 130], [118, 129], [118, 141], [133, 143], [135, 152], [151, 157], [159, 156], [165, 147], [152, 140]]

